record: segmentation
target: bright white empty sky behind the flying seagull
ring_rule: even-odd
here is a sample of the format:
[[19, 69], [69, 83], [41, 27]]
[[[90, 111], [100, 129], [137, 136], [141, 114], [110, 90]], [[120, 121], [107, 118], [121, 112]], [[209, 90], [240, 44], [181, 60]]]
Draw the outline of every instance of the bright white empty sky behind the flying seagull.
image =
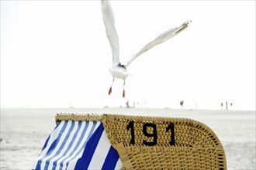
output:
[[99, 1], [1, 1], [1, 107], [255, 110], [255, 1], [114, 1], [120, 59], [161, 32], [189, 28], [150, 49], [116, 80]]

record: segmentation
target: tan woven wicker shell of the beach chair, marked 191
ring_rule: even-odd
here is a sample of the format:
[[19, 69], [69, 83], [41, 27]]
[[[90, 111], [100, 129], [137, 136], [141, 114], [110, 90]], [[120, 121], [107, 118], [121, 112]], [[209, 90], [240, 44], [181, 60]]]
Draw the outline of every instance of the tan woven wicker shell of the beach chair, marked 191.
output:
[[102, 121], [123, 169], [227, 169], [219, 138], [192, 119], [57, 114], [56, 121]]

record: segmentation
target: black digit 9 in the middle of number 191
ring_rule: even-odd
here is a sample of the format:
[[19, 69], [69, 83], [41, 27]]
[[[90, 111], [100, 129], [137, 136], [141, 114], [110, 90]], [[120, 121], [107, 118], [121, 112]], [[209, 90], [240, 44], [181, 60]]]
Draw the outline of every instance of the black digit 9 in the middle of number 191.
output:
[[[153, 134], [149, 134], [147, 132], [147, 127], [151, 127], [153, 128]], [[145, 136], [147, 137], [154, 137], [153, 141], [145, 141], [143, 140], [143, 144], [147, 145], [147, 146], [154, 146], [157, 145], [157, 125], [156, 124], [144, 124], [143, 125], [143, 133], [145, 134]]]

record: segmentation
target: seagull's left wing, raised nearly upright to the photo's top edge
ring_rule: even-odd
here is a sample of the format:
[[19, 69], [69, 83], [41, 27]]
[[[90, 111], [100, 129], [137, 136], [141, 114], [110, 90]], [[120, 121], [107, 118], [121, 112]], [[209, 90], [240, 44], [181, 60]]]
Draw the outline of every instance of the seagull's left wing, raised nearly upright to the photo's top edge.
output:
[[109, 1], [102, 0], [102, 19], [106, 27], [106, 35], [112, 50], [112, 64], [119, 64], [119, 42], [116, 33], [115, 19]]

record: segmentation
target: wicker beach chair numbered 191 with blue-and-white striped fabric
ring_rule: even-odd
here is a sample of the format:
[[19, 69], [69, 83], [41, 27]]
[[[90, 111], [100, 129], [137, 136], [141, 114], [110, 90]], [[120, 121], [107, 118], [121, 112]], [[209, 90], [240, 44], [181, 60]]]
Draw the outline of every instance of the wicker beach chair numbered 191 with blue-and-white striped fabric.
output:
[[206, 124], [186, 118], [57, 114], [35, 169], [227, 169]]

